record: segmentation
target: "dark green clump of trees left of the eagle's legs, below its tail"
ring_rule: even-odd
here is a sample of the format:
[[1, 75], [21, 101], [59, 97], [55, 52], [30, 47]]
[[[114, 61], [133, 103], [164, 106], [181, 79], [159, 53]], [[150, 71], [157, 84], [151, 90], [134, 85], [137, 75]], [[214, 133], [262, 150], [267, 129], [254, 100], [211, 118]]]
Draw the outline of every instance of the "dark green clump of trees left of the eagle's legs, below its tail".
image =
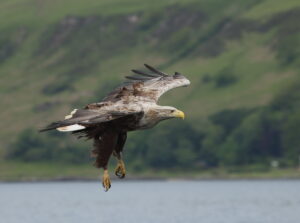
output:
[[57, 161], [86, 163], [89, 150], [58, 132], [38, 133], [34, 129], [21, 132], [7, 151], [6, 159], [25, 162]]

